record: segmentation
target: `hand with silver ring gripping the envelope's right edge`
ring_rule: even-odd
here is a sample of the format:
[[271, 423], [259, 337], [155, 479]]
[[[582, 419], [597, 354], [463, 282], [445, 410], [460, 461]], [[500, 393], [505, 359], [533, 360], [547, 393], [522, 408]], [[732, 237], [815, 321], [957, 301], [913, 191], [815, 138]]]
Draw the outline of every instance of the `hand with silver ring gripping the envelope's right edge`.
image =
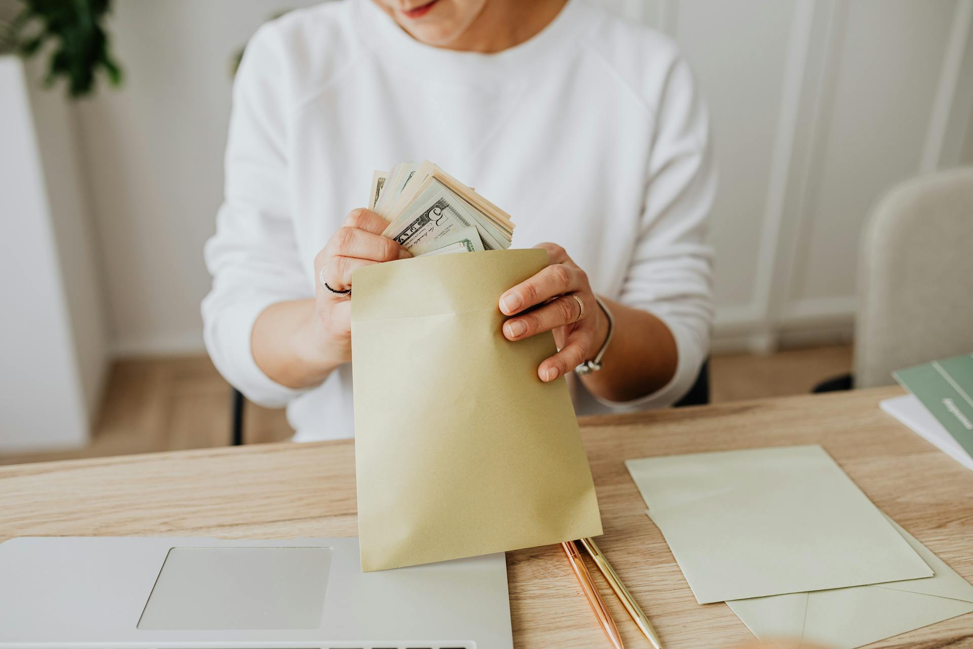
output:
[[595, 357], [608, 336], [608, 320], [588, 275], [564, 249], [555, 243], [536, 247], [548, 251], [550, 265], [501, 295], [500, 311], [517, 316], [503, 324], [509, 341], [554, 331], [559, 351], [537, 368], [537, 376], [549, 382]]

